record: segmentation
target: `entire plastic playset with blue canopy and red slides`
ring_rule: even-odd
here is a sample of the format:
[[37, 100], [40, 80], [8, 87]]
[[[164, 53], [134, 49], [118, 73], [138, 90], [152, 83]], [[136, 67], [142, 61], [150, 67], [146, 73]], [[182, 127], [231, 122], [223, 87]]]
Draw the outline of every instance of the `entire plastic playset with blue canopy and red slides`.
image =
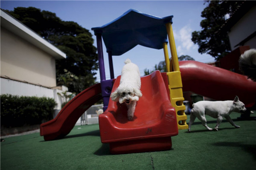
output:
[[[255, 104], [256, 83], [245, 76], [194, 61], [180, 62], [179, 66], [172, 17], [160, 18], [130, 9], [111, 23], [92, 28], [97, 38], [101, 82], [73, 98], [55, 119], [41, 124], [40, 135], [46, 141], [63, 138], [84, 111], [103, 98], [99, 130], [102, 143], [110, 144], [111, 153], [169, 150], [171, 136], [188, 128], [182, 88], [216, 100], [238, 95], [247, 106]], [[108, 52], [110, 80], [105, 78], [102, 38]], [[143, 96], [137, 102], [134, 120], [128, 121], [126, 106], [110, 99], [111, 90], [120, 81], [120, 76], [114, 78], [112, 55], [122, 55], [137, 45], [163, 49], [167, 72], [155, 71], [141, 78]]]

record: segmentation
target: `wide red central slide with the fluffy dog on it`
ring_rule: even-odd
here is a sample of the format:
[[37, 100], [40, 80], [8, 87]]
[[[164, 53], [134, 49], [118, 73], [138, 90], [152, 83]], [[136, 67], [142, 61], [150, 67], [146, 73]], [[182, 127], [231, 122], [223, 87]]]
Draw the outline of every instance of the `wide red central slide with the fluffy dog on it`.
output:
[[[112, 92], [120, 77], [114, 81]], [[126, 104], [111, 99], [108, 109], [99, 115], [101, 141], [110, 144], [113, 154], [169, 150], [171, 136], [178, 134], [166, 73], [155, 71], [142, 77], [140, 90], [143, 96], [137, 101], [132, 121], [128, 121]]]

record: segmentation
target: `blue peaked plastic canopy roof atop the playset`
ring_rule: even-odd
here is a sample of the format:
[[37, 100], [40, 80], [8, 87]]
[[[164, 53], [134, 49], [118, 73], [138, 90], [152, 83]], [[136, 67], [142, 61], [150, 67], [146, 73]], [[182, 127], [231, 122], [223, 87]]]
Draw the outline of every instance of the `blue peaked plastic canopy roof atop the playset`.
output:
[[112, 55], [122, 55], [135, 46], [142, 45], [162, 49], [167, 42], [166, 23], [172, 17], [156, 17], [130, 9], [120, 17], [101, 27], [94, 27], [95, 35], [102, 34], [107, 51]]

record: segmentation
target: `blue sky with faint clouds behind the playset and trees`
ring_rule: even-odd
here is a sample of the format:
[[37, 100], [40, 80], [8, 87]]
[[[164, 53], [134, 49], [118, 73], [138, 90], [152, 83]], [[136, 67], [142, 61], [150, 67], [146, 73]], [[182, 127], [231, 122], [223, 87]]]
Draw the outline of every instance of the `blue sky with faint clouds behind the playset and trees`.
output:
[[[200, 31], [200, 22], [203, 20], [201, 12], [206, 7], [204, 1], [198, 0], [164, 0], [164, 1], [146, 1], [146, 0], [44, 0], [44, 1], [13, 1], [1, 0], [1, 9], [13, 10], [15, 7], [33, 6], [41, 10], [46, 10], [56, 13], [61, 20], [74, 21], [80, 26], [90, 30], [92, 27], [105, 25], [116, 19], [129, 9], [137, 9], [140, 12], [155, 15], [157, 17], [166, 17], [173, 15], [173, 31], [177, 55], [189, 55], [196, 61], [203, 63], [215, 61], [213, 57], [207, 54], [201, 55], [198, 53], [198, 46], [191, 41], [191, 33]], [[96, 46], [96, 36], [93, 34]], [[108, 54], [103, 45], [104, 62], [106, 79], [110, 78], [108, 66]], [[170, 51], [169, 51], [169, 56]], [[134, 49], [126, 52], [121, 56], [113, 56], [114, 74], [115, 77], [121, 74], [122, 66], [126, 58], [130, 58], [133, 63], [136, 63], [140, 68], [141, 76], [144, 75], [144, 69], [153, 70], [154, 65], [160, 61], [164, 61], [163, 49], [149, 49], [143, 46], [136, 46]], [[99, 71], [97, 71], [97, 80], [99, 80]]]

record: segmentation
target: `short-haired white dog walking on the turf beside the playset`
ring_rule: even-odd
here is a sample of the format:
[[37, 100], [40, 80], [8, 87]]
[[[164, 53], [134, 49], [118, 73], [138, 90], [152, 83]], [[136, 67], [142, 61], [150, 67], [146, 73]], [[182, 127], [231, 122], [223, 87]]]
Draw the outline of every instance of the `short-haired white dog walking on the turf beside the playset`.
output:
[[237, 126], [229, 115], [231, 112], [244, 113], [245, 111], [246, 108], [244, 107], [244, 104], [239, 101], [237, 96], [234, 101], [198, 101], [193, 104], [193, 109], [191, 110], [189, 132], [195, 118], [198, 118], [202, 122], [203, 126], [208, 130], [212, 130], [212, 128], [209, 128], [206, 124], [205, 115], [217, 118], [217, 124], [215, 127], [215, 130], [217, 131], [223, 117], [226, 118], [234, 127], [239, 128], [240, 126]]

